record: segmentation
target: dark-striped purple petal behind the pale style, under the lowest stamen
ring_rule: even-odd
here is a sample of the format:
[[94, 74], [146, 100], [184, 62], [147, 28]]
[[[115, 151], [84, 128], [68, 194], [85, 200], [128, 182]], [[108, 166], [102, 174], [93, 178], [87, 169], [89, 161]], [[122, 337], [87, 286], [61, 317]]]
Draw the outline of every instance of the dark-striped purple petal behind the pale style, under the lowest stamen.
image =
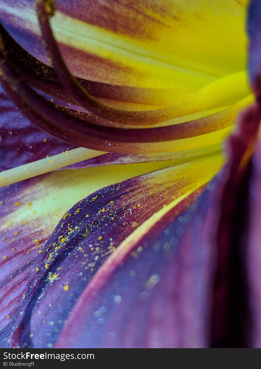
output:
[[[76, 146], [59, 141], [34, 127], [8, 99], [0, 86], [0, 170], [8, 170], [28, 164], [47, 156], [60, 154]], [[89, 168], [111, 164], [130, 164], [150, 161], [188, 160], [195, 156], [208, 154], [219, 150], [219, 145], [185, 150], [181, 152], [167, 152], [161, 154], [116, 154], [108, 153], [70, 165], [66, 168]]]

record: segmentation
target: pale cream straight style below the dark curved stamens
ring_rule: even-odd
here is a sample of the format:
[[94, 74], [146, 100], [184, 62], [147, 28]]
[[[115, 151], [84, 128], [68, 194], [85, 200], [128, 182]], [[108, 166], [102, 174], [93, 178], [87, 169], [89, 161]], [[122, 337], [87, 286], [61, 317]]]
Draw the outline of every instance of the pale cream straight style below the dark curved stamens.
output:
[[79, 147], [77, 149], [62, 152], [61, 154], [50, 156], [49, 158], [18, 166], [17, 168], [8, 169], [4, 172], [0, 172], [0, 187], [49, 173], [53, 170], [95, 158], [96, 156], [103, 154], [107, 153]]

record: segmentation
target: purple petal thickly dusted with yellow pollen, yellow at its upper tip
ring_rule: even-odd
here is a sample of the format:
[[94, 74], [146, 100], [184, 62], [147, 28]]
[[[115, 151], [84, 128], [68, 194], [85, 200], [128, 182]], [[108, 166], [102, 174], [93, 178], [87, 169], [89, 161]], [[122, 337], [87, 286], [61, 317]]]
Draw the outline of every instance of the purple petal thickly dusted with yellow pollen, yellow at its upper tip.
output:
[[[154, 213], [167, 211], [169, 203], [174, 201], [174, 206], [206, 183], [213, 175], [211, 170], [219, 165], [216, 156], [165, 168], [105, 187], [76, 204], [35, 260], [26, 300], [19, 307], [27, 318], [23, 320], [18, 311], [13, 314], [12, 325], [3, 332], [3, 345], [8, 346], [5, 337], [10, 345], [54, 345], [81, 292], [112, 251]], [[15, 344], [14, 334], [21, 324], [24, 328]]]

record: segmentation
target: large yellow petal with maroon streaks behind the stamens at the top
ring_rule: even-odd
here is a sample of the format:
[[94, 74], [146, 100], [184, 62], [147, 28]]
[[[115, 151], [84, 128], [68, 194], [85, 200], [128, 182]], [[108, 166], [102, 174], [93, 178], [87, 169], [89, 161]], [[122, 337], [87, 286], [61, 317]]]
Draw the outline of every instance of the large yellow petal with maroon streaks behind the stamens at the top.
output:
[[[40, 34], [31, 4], [1, 1], [1, 13], [7, 24], [24, 28], [27, 37]], [[115, 6], [101, 0], [64, 1], [58, 3], [52, 27], [67, 62], [81, 77], [198, 89], [244, 70], [245, 18], [245, 8], [235, 0], [118, 1]]]

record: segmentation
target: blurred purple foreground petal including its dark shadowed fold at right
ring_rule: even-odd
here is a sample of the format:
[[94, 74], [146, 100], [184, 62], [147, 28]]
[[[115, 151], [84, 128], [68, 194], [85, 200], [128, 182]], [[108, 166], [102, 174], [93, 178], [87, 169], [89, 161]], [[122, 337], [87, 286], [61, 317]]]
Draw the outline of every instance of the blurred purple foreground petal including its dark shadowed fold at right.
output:
[[241, 196], [260, 118], [258, 104], [244, 112], [228, 142], [227, 165], [198, 201], [145, 222], [109, 256], [56, 347], [250, 344], [239, 229], [243, 237]]

